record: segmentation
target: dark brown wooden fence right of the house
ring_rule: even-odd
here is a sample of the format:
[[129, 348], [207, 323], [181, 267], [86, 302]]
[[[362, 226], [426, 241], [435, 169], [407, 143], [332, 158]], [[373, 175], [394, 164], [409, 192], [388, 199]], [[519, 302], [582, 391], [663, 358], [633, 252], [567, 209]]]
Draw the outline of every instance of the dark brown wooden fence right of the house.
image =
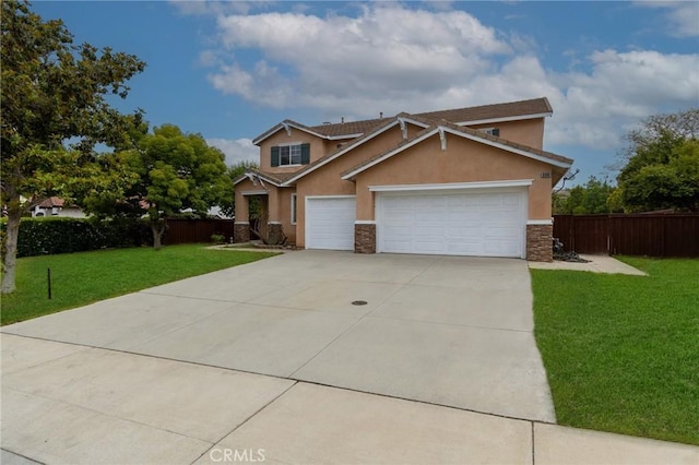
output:
[[554, 215], [554, 237], [578, 253], [699, 257], [699, 214]]

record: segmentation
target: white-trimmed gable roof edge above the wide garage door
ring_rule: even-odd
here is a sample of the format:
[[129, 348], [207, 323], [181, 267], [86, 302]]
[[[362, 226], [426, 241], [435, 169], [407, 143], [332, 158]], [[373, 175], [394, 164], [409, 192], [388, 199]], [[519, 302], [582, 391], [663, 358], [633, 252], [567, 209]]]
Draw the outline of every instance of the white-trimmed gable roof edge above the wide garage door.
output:
[[556, 155], [550, 152], [541, 151], [538, 148], [530, 147], [523, 144], [518, 144], [506, 139], [496, 138], [495, 135], [487, 134], [483, 131], [478, 131], [471, 128], [463, 128], [448, 121], [440, 121], [439, 124], [433, 124], [429, 128], [418, 132], [413, 138], [403, 141], [396, 147], [393, 147], [382, 154], [379, 154], [375, 157], [371, 157], [359, 165], [350, 168], [348, 170], [341, 174], [342, 179], [351, 180], [358, 174], [371, 168], [375, 165], [403, 152], [406, 148], [412, 147], [413, 145], [418, 144], [425, 139], [431, 138], [435, 134], [450, 133], [464, 139], [469, 139], [478, 143], [483, 143], [486, 145], [490, 145], [497, 148], [505, 150], [507, 152], [511, 152], [518, 155], [522, 155], [529, 158], [534, 158], [540, 162], [546, 163], [548, 165], [553, 165], [554, 167], [561, 168], [567, 170], [572, 165], [573, 160], [570, 158], [566, 158], [560, 155]]

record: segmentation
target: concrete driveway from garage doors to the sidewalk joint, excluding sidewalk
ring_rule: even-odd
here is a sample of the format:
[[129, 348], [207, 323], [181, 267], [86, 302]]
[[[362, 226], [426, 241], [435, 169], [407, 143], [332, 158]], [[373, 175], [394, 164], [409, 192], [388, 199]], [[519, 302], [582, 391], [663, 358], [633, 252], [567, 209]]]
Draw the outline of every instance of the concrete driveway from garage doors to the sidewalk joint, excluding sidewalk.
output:
[[522, 260], [299, 251], [2, 331], [555, 422]]

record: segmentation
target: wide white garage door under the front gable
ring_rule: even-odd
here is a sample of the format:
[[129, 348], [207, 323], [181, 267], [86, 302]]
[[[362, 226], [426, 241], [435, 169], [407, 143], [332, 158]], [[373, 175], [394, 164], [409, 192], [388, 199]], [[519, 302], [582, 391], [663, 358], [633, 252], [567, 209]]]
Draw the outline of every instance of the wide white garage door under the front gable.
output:
[[379, 194], [378, 251], [524, 258], [526, 191]]

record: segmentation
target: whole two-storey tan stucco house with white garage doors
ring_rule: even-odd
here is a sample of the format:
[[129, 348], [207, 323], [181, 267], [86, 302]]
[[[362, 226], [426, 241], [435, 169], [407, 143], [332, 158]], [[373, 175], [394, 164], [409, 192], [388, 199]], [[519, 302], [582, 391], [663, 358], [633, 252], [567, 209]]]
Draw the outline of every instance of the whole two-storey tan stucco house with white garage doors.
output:
[[552, 260], [552, 189], [572, 159], [543, 150], [546, 98], [305, 126], [253, 140], [260, 169], [235, 180], [271, 240], [306, 249]]

